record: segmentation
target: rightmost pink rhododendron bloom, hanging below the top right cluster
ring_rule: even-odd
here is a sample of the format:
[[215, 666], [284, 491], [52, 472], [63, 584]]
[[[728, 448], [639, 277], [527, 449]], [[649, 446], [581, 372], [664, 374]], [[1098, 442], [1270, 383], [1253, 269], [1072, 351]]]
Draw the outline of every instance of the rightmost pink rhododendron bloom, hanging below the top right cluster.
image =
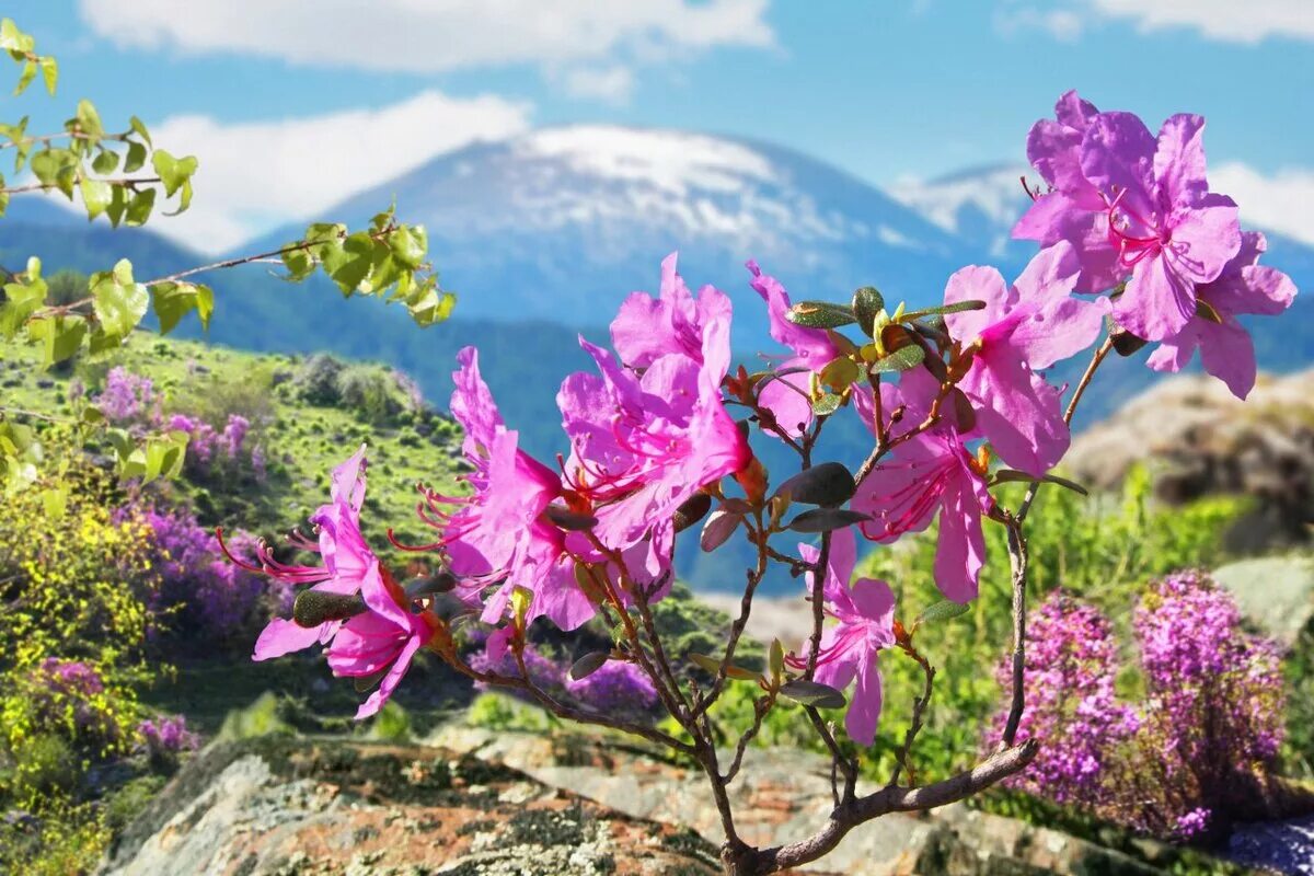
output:
[[1236, 315], [1273, 317], [1296, 299], [1296, 284], [1290, 277], [1257, 264], [1265, 250], [1268, 242], [1263, 234], [1242, 234], [1240, 252], [1223, 267], [1218, 278], [1196, 288], [1197, 298], [1213, 314], [1197, 310], [1180, 332], [1159, 344], [1146, 364], [1159, 372], [1179, 372], [1198, 348], [1205, 370], [1227, 383], [1236, 398], [1246, 398], [1255, 386], [1255, 344]]

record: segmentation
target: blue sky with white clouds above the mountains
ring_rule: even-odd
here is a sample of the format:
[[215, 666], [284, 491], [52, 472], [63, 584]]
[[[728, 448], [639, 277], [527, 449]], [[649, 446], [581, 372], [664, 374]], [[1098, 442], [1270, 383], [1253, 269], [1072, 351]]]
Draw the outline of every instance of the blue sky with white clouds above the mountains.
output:
[[202, 246], [472, 138], [569, 122], [773, 141], [878, 185], [930, 179], [1020, 162], [1067, 88], [1151, 126], [1206, 116], [1217, 176], [1314, 240], [1310, 0], [17, 0], [5, 14], [63, 79], [55, 101], [5, 99], [4, 117], [50, 127], [83, 96], [109, 125], [138, 113], [201, 158], [197, 215], [175, 234]]

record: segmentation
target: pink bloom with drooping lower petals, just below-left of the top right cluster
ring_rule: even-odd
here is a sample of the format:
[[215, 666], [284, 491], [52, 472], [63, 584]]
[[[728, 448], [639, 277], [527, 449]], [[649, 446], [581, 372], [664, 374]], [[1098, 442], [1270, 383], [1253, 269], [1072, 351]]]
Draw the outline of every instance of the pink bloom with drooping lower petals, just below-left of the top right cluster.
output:
[[1089, 347], [1108, 310], [1105, 299], [1071, 296], [1076, 277], [1076, 253], [1063, 240], [1031, 259], [1012, 286], [995, 268], [971, 267], [945, 289], [946, 305], [986, 302], [983, 310], [945, 317], [954, 339], [975, 348], [958, 387], [999, 456], [1029, 474], [1045, 474], [1070, 441], [1059, 390], [1035, 372]]

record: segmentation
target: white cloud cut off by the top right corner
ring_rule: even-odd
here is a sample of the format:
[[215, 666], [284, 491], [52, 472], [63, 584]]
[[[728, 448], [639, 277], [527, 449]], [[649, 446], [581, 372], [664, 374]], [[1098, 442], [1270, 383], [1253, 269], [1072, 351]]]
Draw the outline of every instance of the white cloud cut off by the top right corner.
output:
[[1206, 39], [1255, 45], [1269, 37], [1314, 41], [1311, 0], [1005, 0], [996, 26], [1041, 29], [1071, 42], [1096, 21], [1129, 21], [1142, 32], [1185, 28]]

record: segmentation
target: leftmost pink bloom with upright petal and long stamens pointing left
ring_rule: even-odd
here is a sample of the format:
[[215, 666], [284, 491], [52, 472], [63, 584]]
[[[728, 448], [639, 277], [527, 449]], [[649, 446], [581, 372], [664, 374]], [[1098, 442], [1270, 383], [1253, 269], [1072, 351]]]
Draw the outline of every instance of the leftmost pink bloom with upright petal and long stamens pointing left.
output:
[[[378, 567], [365, 537], [360, 532], [360, 508], [365, 500], [365, 447], [361, 445], [346, 462], [332, 471], [330, 502], [321, 506], [310, 521], [315, 525], [318, 538], [296, 537], [294, 544], [323, 558], [322, 566], [294, 566], [273, 558], [268, 545], [260, 544], [256, 557], [260, 566], [252, 566], [234, 557], [223, 544], [219, 532], [219, 548], [225, 556], [247, 569], [269, 575], [288, 584], [311, 584], [313, 590], [331, 594], [351, 595], [360, 592], [361, 582]], [[294, 621], [275, 617], [256, 640], [252, 659], [267, 661], [300, 651], [315, 644], [328, 642], [338, 632], [342, 621], [325, 621], [318, 626], [300, 626]]]

